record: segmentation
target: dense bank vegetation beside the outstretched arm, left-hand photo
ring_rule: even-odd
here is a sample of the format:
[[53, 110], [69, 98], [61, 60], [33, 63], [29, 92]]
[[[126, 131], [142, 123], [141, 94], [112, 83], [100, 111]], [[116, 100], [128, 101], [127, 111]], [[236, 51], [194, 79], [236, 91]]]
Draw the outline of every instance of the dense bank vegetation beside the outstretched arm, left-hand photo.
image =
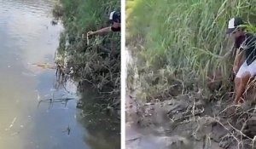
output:
[[65, 73], [72, 68], [71, 77], [79, 84], [91, 83], [105, 95], [102, 99], [108, 107], [118, 107], [120, 100], [120, 34], [111, 32], [87, 40], [86, 32], [110, 26], [108, 15], [119, 8], [119, 0], [61, 0], [53, 10], [65, 28], [56, 64]]

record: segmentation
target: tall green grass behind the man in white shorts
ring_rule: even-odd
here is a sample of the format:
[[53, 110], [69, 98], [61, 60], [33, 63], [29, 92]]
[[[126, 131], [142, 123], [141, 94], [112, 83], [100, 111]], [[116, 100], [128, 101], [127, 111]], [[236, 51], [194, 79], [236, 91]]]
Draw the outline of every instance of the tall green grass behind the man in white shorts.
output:
[[255, 0], [126, 3], [127, 44], [136, 45], [132, 52], [139, 60], [130, 67], [131, 75], [137, 72], [139, 77], [128, 77], [128, 83], [135, 81], [131, 86], [137, 86], [142, 99], [169, 95], [174, 83], [183, 92], [206, 89], [217, 77], [221, 89], [232, 85], [232, 43], [225, 29], [234, 16], [255, 23]]

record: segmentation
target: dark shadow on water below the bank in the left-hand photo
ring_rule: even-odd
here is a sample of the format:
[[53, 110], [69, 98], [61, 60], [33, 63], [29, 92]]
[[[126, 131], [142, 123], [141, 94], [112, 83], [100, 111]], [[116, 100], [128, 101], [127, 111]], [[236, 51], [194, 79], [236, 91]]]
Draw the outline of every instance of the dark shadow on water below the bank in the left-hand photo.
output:
[[119, 149], [120, 148], [120, 124], [119, 119], [102, 111], [102, 98], [96, 90], [88, 86], [84, 89], [81, 100], [84, 103], [79, 111], [78, 121], [87, 129], [84, 136], [86, 144], [93, 148]]

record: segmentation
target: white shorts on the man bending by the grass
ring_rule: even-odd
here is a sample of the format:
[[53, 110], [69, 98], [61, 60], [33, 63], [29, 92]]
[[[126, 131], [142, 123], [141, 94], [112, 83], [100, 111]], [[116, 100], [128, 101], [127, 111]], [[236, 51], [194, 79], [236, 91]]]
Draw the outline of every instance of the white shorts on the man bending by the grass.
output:
[[239, 71], [236, 73], [236, 77], [241, 78], [244, 72], [250, 72], [251, 76], [256, 75], [256, 60], [249, 66], [247, 66], [247, 61], [245, 60], [239, 68]]

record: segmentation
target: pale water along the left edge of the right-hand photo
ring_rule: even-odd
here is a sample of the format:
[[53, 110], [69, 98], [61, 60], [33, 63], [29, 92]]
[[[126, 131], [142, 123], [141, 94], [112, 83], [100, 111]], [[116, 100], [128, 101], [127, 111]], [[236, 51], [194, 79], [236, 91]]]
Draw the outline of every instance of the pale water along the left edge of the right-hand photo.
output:
[[[131, 51], [128, 47], [125, 48], [125, 79], [128, 80], [128, 69], [130, 65], [134, 65], [134, 59], [131, 56]], [[137, 75], [135, 76], [137, 77]], [[127, 84], [127, 83], [126, 83]], [[137, 102], [136, 99], [131, 98], [135, 96], [134, 93], [126, 92], [125, 98], [125, 146], [126, 149], [154, 149], [165, 148], [166, 141], [158, 135], [154, 135], [152, 129], [145, 129], [137, 127]]]

